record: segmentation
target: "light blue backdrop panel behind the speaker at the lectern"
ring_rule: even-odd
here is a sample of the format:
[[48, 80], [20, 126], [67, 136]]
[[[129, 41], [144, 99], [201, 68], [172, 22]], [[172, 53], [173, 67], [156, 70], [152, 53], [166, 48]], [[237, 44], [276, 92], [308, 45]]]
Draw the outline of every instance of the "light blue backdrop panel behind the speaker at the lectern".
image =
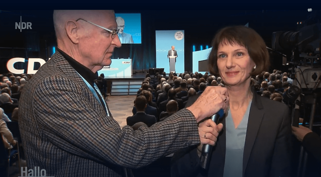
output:
[[169, 73], [169, 59], [167, 58], [167, 54], [171, 46], [175, 46], [175, 50], [177, 50], [176, 73], [184, 73], [185, 35], [182, 40], [176, 40], [174, 34], [177, 31], [182, 31], [184, 34], [184, 30], [156, 31], [156, 67], [164, 68], [166, 73]]

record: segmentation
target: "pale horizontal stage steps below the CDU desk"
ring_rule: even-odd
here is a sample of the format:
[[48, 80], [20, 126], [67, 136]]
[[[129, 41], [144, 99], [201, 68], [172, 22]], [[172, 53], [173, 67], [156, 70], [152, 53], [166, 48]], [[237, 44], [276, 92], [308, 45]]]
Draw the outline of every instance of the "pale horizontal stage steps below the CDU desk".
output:
[[142, 82], [142, 79], [112, 81], [110, 95], [136, 95]]

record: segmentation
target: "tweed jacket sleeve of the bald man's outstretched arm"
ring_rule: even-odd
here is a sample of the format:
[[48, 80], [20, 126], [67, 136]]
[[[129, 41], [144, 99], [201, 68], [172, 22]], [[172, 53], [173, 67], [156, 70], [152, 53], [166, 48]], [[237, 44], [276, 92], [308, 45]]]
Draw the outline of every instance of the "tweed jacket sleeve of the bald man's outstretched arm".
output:
[[68, 153], [139, 168], [200, 143], [195, 117], [187, 109], [150, 128], [120, 129], [84, 83], [53, 75], [36, 84], [32, 109], [37, 124], [53, 145]]

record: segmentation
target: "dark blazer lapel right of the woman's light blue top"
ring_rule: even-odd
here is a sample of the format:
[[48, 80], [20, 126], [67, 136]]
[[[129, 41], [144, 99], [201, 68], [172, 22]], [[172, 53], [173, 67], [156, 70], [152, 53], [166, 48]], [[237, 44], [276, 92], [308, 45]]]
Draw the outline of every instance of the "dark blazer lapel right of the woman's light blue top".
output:
[[256, 135], [260, 128], [261, 121], [264, 115], [264, 109], [263, 109], [261, 98], [259, 97], [259, 95], [257, 95], [256, 92], [252, 91], [252, 93], [253, 93], [253, 99], [252, 99], [252, 104], [250, 108], [250, 114], [248, 117], [247, 132], [246, 132], [244, 153], [243, 153], [243, 176], [245, 174], [248, 159], [250, 157], [252, 147], [254, 145]]

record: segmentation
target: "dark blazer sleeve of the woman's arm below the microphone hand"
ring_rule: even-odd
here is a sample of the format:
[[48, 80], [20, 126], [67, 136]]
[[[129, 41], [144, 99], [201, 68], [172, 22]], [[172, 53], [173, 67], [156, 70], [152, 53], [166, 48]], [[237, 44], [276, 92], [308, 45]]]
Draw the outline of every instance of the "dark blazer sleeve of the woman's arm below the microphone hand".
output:
[[200, 157], [197, 155], [197, 147], [187, 147], [181, 149], [172, 157], [171, 177], [193, 177], [199, 173]]

